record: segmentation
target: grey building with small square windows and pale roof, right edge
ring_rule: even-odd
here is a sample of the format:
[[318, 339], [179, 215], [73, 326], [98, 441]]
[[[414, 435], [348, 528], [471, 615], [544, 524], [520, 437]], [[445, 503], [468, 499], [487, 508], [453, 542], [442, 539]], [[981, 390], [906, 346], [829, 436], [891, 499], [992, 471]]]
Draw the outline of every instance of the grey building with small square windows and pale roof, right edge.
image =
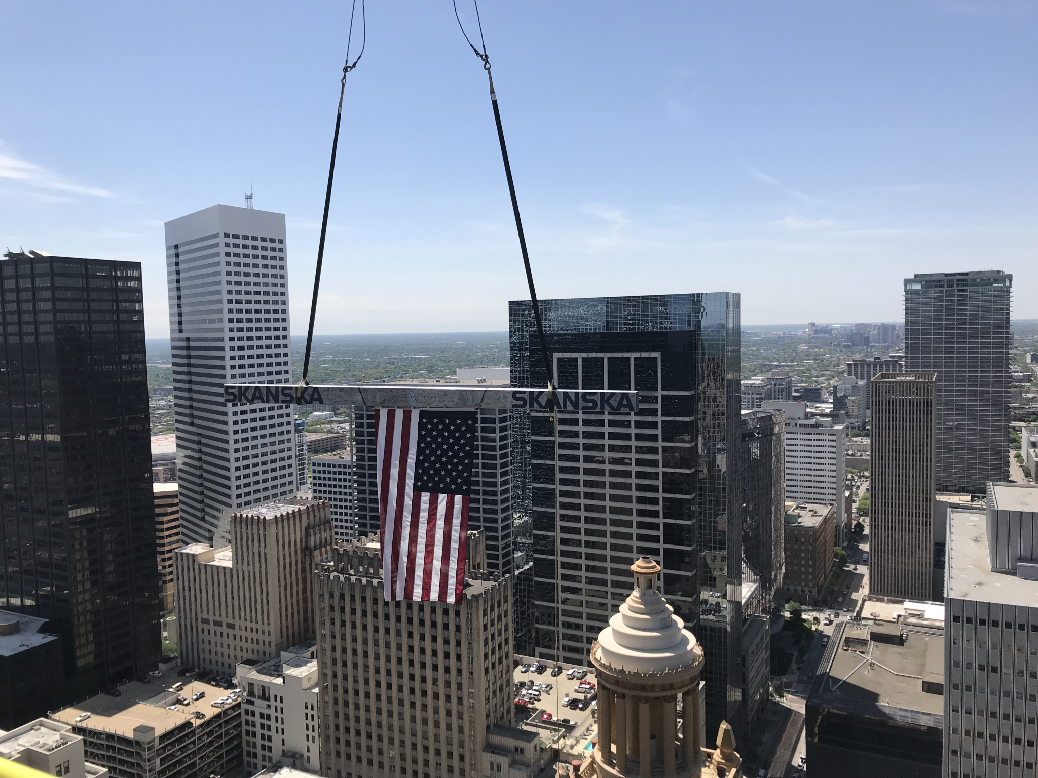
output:
[[948, 511], [945, 778], [1035, 775], [1038, 487]]

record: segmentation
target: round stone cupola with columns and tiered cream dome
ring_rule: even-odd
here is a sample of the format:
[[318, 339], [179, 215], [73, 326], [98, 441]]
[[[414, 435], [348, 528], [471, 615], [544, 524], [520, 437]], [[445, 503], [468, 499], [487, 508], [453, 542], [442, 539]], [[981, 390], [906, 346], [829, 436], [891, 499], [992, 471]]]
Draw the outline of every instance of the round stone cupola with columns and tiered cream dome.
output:
[[599, 778], [649, 778], [662, 768], [667, 778], [699, 778], [703, 648], [657, 590], [660, 566], [652, 557], [640, 557], [631, 571], [634, 591], [591, 649], [599, 678], [596, 772]]

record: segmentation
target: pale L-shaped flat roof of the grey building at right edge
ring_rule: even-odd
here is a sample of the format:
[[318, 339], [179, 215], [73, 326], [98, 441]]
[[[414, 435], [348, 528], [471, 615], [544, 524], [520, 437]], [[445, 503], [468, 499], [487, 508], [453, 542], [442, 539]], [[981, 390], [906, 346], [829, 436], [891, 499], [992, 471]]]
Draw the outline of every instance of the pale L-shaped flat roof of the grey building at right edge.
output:
[[991, 572], [987, 516], [980, 511], [949, 509], [947, 576], [949, 598], [1038, 608], [1038, 581]]

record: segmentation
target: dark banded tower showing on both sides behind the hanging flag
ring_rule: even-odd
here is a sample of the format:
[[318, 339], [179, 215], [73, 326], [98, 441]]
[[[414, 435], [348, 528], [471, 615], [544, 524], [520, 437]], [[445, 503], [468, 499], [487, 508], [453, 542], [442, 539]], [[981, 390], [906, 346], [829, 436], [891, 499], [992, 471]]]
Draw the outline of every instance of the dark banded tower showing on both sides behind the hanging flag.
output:
[[[454, 386], [458, 386], [455, 384]], [[351, 423], [354, 483], [357, 490], [356, 534], [379, 531], [379, 490], [376, 472], [375, 409], [356, 406]], [[509, 411], [480, 411], [480, 452], [472, 462], [472, 493], [468, 528], [483, 530], [487, 569], [515, 575], [512, 541], [512, 444]]]

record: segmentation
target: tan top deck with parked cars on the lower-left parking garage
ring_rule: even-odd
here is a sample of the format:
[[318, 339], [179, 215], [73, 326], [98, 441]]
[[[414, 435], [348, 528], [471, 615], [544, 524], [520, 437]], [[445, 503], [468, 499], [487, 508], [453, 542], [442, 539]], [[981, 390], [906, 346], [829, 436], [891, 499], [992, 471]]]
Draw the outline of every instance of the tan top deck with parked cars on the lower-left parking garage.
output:
[[[166, 691], [176, 682], [184, 684], [184, 689], [180, 692]], [[115, 732], [130, 739], [133, 739], [135, 727], [145, 724], [155, 727], [155, 735], [158, 738], [184, 723], [190, 723], [192, 726], [204, 724], [222, 711], [233, 710], [235, 705], [241, 704], [231, 702], [222, 708], [213, 707], [211, 704], [213, 700], [226, 695], [225, 690], [200, 680], [177, 677], [173, 670], [166, 670], [161, 678], [154, 678], [151, 684], [136, 680], [126, 684], [119, 687], [119, 691], [122, 692], [120, 697], [99, 694], [51, 714], [51, 718], [71, 726]], [[191, 695], [196, 692], [206, 692], [206, 696], [187, 705], [176, 702], [179, 696], [186, 697], [190, 701]], [[166, 705], [176, 705], [180, 710], [170, 711]], [[196, 719], [195, 711], [201, 711], [206, 714], [206, 718]], [[90, 718], [77, 724], [76, 717], [84, 713], [90, 714]]]

